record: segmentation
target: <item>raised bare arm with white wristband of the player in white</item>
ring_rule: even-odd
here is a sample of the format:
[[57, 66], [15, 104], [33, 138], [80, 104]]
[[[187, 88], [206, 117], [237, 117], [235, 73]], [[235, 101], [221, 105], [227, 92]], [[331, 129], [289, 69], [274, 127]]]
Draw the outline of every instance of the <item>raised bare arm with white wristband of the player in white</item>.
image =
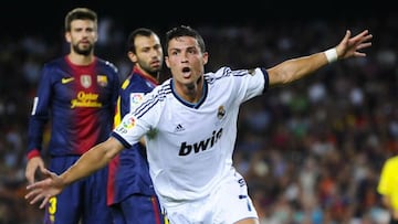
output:
[[287, 60], [269, 68], [270, 86], [294, 82], [337, 60], [366, 56], [360, 50], [371, 46], [369, 41], [373, 35], [368, 30], [353, 38], [350, 35], [350, 31], [347, 30], [339, 44], [328, 51]]

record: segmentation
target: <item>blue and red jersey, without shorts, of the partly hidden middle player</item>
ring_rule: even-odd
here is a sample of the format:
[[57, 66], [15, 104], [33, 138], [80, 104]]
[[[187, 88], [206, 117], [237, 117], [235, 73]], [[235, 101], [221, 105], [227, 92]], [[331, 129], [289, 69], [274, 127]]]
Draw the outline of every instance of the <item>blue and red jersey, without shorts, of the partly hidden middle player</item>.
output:
[[[145, 94], [158, 85], [156, 78], [143, 73], [139, 68], [134, 67], [122, 84], [115, 126], [121, 122], [123, 116], [142, 102]], [[118, 203], [135, 193], [155, 195], [145, 150], [143, 145], [135, 143], [111, 161], [107, 189], [108, 205]]]

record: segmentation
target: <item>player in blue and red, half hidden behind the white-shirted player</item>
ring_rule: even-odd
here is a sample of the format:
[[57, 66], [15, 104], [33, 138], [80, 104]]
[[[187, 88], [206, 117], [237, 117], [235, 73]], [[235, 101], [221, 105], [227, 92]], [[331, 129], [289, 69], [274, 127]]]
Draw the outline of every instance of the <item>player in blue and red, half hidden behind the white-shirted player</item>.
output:
[[[133, 70], [122, 84], [115, 126], [158, 85], [164, 54], [158, 35], [148, 29], [134, 30], [127, 40]], [[149, 177], [145, 141], [123, 150], [109, 163], [107, 203], [113, 224], [164, 224], [164, 216]]]

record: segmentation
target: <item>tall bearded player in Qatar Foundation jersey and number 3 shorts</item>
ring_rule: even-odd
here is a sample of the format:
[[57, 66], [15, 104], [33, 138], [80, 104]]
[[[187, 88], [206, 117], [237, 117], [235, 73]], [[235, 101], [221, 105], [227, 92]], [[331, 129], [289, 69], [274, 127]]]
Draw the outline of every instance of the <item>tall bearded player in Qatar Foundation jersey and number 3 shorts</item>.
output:
[[[62, 173], [93, 146], [106, 140], [113, 128], [119, 79], [116, 67], [94, 55], [97, 14], [76, 8], [65, 17], [70, 53], [46, 63], [29, 122], [25, 177], [35, 180], [42, 159], [46, 125], [51, 124], [49, 169]], [[106, 205], [107, 167], [78, 181], [46, 204], [44, 223], [109, 224]]]

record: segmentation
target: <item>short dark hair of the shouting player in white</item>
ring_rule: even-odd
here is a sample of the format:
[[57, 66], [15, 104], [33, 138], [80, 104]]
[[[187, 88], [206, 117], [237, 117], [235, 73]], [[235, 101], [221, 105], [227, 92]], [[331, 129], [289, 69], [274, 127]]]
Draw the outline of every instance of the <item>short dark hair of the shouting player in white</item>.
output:
[[206, 52], [206, 45], [205, 45], [205, 41], [203, 38], [199, 34], [198, 31], [196, 31], [195, 29], [190, 28], [189, 25], [180, 25], [180, 26], [176, 26], [172, 28], [171, 30], [167, 31], [166, 33], [166, 56], [168, 55], [168, 45], [170, 40], [175, 39], [175, 38], [179, 38], [179, 36], [191, 36], [193, 39], [196, 39], [198, 41], [198, 45], [200, 51], [203, 53]]

